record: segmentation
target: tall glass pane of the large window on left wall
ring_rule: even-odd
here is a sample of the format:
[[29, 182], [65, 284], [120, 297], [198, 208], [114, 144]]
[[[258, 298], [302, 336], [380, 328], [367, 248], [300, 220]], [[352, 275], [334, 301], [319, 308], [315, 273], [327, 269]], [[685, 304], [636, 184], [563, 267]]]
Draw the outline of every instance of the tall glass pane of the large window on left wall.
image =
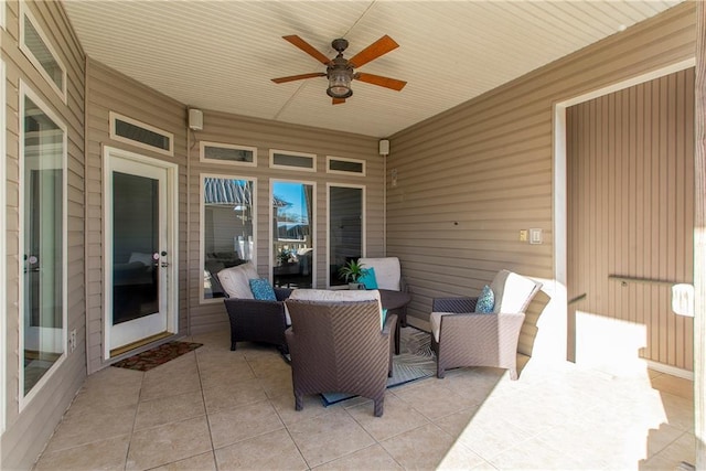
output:
[[64, 353], [64, 131], [24, 97], [24, 395]]

